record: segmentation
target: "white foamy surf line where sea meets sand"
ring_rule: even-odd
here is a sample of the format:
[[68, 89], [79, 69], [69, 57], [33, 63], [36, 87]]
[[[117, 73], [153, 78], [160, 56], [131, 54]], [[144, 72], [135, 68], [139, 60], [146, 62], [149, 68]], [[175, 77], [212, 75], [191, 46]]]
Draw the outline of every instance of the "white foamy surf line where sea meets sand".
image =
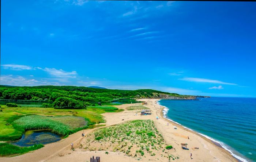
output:
[[[158, 100], [158, 101], [160, 101], [160, 100]], [[158, 104], [159, 106], [164, 107], [164, 109], [163, 109], [163, 117], [165, 117], [167, 120], [170, 120], [170, 121], [172, 121], [172, 122], [174, 122], [174, 123], [176, 123], [176, 124], [181, 125], [180, 123], [178, 123], [178, 122], [176, 122], [176, 121], [173, 121], [172, 119], [168, 119], [168, 118], [166, 117], [166, 114], [168, 113], [169, 108], [167, 108], [167, 107], [165, 107], [165, 106], [163, 106], [163, 105], [160, 105], [160, 103], [159, 103], [158, 101], [157, 101], [157, 104]], [[182, 126], [182, 125], [181, 125], [181, 126]], [[182, 126], [182, 127], [186, 128], [186, 129], [188, 129], [188, 130], [191, 130], [191, 131], [193, 131], [193, 132], [196, 132], [196, 131], [194, 131], [194, 130], [188, 128], [188, 127], [185, 127], [185, 126]], [[249, 161], [247, 161], [246, 159], [244, 159], [244, 158], [242, 158], [242, 157], [240, 157], [240, 156], [234, 154], [234, 153], [232, 152], [231, 148], [229, 148], [229, 146], [227, 146], [225, 143], [220, 142], [220, 141], [218, 141], [218, 140], [216, 140], [216, 139], [213, 139], [213, 138], [211, 138], [211, 137], [209, 137], [209, 136], [207, 136], [207, 135], [201, 134], [201, 133], [199, 133], [199, 132], [196, 132], [196, 133], [197, 133], [197, 134], [200, 134], [200, 135], [204, 136], [205, 138], [210, 139], [210, 140], [212, 140], [212, 141], [214, 141], [214, 142], [216, 142], [216, 143], [219, 143], [219, 144], [221, 145], [221, 147], [223, 147], [225, 150], [229, 151], [229, 153], [230, 153], [233, 157], [239, 159], [240, 161], [242, 161], [242, 162], [249, 162]]]

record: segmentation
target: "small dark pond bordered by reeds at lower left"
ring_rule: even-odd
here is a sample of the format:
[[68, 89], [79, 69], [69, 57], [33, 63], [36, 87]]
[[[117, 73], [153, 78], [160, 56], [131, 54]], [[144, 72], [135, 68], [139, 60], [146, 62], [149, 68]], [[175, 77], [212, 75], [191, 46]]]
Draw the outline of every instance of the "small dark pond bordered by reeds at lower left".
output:
[[34, 144], [48, 144], [61, 140], [61, 136], [54, 134], [50, 131], [39, 130], [39, 131], [26, 131], [22, 135], [22, 138], [12, 142], [16, 146], [33, 146]]

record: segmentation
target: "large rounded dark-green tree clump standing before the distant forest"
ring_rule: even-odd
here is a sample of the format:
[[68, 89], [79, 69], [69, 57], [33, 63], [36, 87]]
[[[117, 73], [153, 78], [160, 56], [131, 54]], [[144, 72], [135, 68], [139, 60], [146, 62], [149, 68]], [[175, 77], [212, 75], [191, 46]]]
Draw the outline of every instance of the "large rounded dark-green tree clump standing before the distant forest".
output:
[[54, 108], [74, 108], [74, 109], [85, 109], [86, 105], [75, 99], [68, 97], [59, 97], [53, 102]]

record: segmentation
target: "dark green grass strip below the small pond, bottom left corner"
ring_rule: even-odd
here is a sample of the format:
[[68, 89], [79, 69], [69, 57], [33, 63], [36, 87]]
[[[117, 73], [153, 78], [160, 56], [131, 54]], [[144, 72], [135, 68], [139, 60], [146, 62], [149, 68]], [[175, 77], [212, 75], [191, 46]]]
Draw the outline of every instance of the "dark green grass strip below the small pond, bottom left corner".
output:
[[19, 147], [9, 143], [0, 143], [0, 157], [8, 155], [20, 155], [29, 151], [37, 150], [42, 147], [44, 147], [44, 145], [42, 144], [35, 144], [34, 146], [30, 147]]

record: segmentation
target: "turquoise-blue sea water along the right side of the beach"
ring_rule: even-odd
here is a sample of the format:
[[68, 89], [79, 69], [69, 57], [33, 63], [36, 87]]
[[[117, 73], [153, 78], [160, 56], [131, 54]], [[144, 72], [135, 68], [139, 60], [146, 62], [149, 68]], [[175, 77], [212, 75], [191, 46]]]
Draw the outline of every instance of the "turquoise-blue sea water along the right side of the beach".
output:
[[160, 100], [166, 118], [219, 142], [241, 161], [256, 161], [256, 98]]

